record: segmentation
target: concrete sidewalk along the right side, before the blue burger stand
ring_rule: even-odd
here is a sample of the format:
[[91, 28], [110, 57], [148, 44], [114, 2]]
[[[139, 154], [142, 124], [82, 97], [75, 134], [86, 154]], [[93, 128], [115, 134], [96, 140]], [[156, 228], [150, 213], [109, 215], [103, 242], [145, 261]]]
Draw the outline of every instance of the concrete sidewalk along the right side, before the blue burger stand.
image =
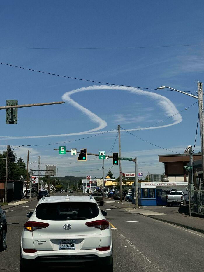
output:
[[193, 217], [193, 216], [190, 217], [189, 215], [186, 215], [184, 213], [179, 213], [178, 210], [174, 210], [166, 214], [166, 213], [160, 213], [157, 211], [148, 210], [148, 207], [143, 208], [142, 206], [135, 209], [134, 208], [135, 205], [133, 205], [132, 203], [125, 203], [125, 202], [121, 203], [121, 202], [112, 201], [111, 199], [107, 203], [110, 203], [111, 206], [114, 206], [116, 208], [126, 210], [129, 213], [140, 214], [140, 215], [147, 216], [147, 217], [150, 217], [159, 221], [163, 221], [169, 224], [177, 225], [180, 227], [184, 227], [187, 229], [204, 233], [204, 219], [203, 218]]

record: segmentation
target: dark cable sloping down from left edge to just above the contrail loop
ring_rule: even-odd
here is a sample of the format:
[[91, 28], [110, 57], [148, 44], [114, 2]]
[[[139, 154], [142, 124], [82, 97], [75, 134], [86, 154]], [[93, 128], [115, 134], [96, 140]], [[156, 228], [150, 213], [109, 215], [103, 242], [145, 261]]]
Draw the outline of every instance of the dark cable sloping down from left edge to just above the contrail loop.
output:
[[11, 67], [16, 67], [16, 68], [20, 68], [20, 69], [24, 69], [24, 70], [29, 70], [29, 71], [33, 71], [33, 72], [48, 74], [48, 75], [52, 75], [52, 76], [60, 76], [60, 77], [63, 77], [63, 78], [71, 78], [71, 79], [83, 80], [83, 81], [88, 81], [88, 82], [93, 82], [93, 83], [100, 83], [100, 84], [108, 84], [108, 85], [115, 85], [115, 86], [122, 86], [122, 87], [131, 87], [131, 88], [139, 88], [139, 89], [147, 89], [147, 90], [156, 90], [156, 91], [158, 91], [157, 89], [153, 89], [153, 88], [136, 87], [136, 86], [128, 86], [128, 85], [119, 85], [119, 84], [114, 84], [114, 83], [100, 82], [100, 81], [88, 80], [88, 79], [83, 79], [83, 78], [75, 78], [75, 77], [71, 77], [71, 76], [62, 76], [62, 75], [58, 75], [58, 74], [54, 74], [54, 73], [48, 73], [48, 72], [43, 72], [43, 71], [39, 71], [39, 70], [24, 68], [24, 67], [21, 67], [21, 66], [12, 65], [12, 64], [3, 63], [3, 62], [0, 62], [0, 64], [11, 66]]

